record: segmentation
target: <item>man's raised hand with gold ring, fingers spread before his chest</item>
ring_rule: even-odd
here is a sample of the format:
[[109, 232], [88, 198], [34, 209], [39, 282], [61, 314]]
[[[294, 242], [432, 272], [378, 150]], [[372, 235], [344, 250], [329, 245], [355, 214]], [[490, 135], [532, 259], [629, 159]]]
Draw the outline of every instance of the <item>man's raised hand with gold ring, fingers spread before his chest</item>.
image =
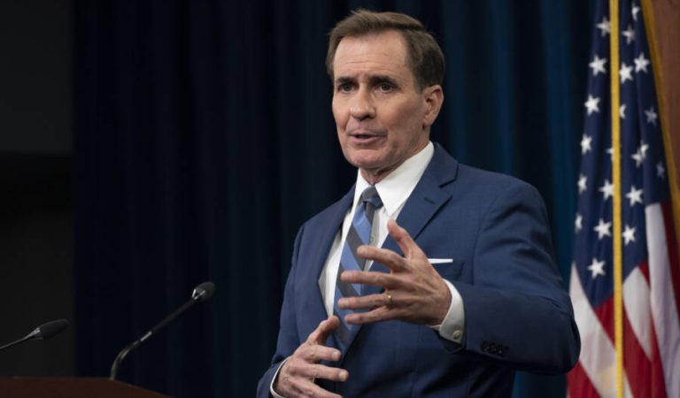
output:
[[390, 219], [387, 231], [397, 242], [404, 256], [388, 249], [360, 246], [357, 254], [383, 264], [390, 273], [345, 271], [344, 282], [384, 287], [379, 295], [344, 297], [338, 300], [341, 309], [371, 309], [345, 317], [353, 325], [370, 324], [399, 319], [419, 325], [439, 325], [444, 321], [451, 305], [451, 291], [437, 270], [429, 264], [428, 257], [413, 241], [406, 229]]

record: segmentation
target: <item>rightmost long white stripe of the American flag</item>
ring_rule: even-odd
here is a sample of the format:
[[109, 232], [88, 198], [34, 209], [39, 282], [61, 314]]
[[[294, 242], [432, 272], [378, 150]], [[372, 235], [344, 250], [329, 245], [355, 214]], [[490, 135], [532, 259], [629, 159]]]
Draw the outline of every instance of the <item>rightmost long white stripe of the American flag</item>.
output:
[[670, 275], [668, 242], [661, 204], [645, 208], [651, 305], [668, 397], [680, 397], [680, 322]]

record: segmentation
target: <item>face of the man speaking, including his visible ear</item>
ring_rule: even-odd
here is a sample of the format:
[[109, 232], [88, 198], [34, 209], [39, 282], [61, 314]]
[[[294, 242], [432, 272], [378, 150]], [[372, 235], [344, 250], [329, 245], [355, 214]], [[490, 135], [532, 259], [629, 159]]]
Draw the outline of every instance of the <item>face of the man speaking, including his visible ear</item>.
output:
[[418, 91], [396, 31], [345, 37], [333, 62], [333, 117], [344, 157], [371, 184], [423, 149], [443, 100]]

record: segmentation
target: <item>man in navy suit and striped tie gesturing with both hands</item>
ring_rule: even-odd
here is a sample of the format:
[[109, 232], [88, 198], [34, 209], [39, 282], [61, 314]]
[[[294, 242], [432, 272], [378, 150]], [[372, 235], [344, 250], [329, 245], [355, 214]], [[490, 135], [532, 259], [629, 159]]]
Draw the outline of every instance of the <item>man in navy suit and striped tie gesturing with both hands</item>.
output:
[[357, 182], [298, 232], [258, 396], [498, 397], [516, 370], [568, 371], [580, 342], [537, 191], [429, 142], [437, 42], [356, 11], [327, 66]]

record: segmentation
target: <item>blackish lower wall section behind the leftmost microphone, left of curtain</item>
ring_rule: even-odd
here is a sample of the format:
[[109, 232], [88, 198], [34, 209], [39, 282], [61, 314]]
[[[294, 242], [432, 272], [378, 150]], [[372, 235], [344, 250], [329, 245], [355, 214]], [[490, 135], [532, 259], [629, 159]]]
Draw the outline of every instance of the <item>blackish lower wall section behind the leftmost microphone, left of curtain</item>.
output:
[[[0, 342], [73, 320], [69, 157], [0, 155]], [[73, 327], [0, 353], [0, 375], [73, 374]]]

